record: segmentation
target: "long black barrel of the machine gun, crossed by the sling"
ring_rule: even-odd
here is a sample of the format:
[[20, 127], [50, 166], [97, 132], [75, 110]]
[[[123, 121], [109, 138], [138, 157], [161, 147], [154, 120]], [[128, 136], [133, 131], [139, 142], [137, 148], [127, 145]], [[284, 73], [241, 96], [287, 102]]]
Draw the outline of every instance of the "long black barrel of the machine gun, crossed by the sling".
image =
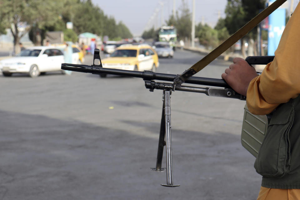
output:
[[[131, 71], [123, 69], [110, 69], [110, 68], [101, 68], [90, 65], [77, 65], [77, 64], [68, 64], [63, 63], [61, 66], [63, 70], [69, 70], [74, 72], [84, 72], [92, 74], [112, 74], [119, 76], [129, 76], [136, 78], [143, 78], [144, 80], [160, 80], [160, 81], [171, 81], [176, 78], [176, 74], [165, 74], [165, 73], [155, 73], [152, 71]], [[231, 88], [223, 79], [218, 78], [203, 78], [203, 77], [190, 77], [185, 83], [197, 84], [197, 85], [208, 85], [215, 87]]]

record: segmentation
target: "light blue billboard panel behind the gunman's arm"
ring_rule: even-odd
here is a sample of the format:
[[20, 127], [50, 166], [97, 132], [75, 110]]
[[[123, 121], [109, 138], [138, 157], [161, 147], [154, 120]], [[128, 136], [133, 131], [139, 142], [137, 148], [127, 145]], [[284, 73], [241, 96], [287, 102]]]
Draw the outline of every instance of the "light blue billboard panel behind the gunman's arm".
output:
[[[275, 0], [270, 0], [269, 5]], [[269, 15], [268, 56], [274, 56], [285, 27], [286, 9], [278, 8]]]

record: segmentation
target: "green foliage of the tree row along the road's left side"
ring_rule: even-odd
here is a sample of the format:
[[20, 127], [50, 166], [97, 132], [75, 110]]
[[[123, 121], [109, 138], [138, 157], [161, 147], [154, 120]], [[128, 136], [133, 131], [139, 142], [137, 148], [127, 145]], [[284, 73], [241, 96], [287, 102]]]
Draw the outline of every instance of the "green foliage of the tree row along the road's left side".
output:
[[[99, 36], [132, 37], [125, 24], [116, 24], [113, 17], [107, 17], [104, 12], [92, 1], [80, 0], [1, 0], [0, 1], [0, 33], [5, 28], [11, 28], [15, 44], [20, 38], [30, 31], [31, 39], [38, 44], [37, 35], [44, 38], [47, 31], [64, 31], [66, 22], [73, 22], [73, 30], [79, 35], [82, 32], [92, 32]], [[19, 33], [17, 28], [20, 23], [26, 24], [27, 29]], [[67, 31], [66, 37], [75, 37]], [[72, 33], [74, 35], [74, 33]], [[39, 37], [38, 37], [39, 38]], [[15, 45], [18, 46], [18, 45]]]

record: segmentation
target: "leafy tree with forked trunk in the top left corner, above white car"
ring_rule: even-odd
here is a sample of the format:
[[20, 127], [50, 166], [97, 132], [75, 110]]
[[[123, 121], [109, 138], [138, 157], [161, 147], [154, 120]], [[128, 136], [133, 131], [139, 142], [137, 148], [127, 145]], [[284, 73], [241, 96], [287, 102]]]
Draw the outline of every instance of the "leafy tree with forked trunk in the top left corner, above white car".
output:
[[[10, 28], [14, 38], [15, 53], [20, 52], [19, 42], [31, 27], [54, 24], [62, 8], [62, 0], [2, 0], [0, 6], [4, 26]], [[2, 25], [3, 26], [3, 25]], [[21, 30], [22, 26], [22, 30]]]

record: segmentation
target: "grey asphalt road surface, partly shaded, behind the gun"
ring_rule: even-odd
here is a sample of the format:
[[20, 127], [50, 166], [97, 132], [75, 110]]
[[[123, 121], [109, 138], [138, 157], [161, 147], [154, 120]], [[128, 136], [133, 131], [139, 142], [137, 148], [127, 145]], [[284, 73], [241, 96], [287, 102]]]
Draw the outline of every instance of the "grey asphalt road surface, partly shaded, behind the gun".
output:
[[[202, 56], [178, 50], [158, 73], [182, 73]], [[87, 56], [85, 64], [92, 64]], [[229, 62], [197, 74], [220, 78]], [[140, 78], [73, 73], [0, 75], [0, 200], [255, 200], [261, 177], [241, 145], [245, 102], [171, 95], [173, 180], [153, 172], [162, 91]], [[165, 166], [165, 154], [163, 157]]]

